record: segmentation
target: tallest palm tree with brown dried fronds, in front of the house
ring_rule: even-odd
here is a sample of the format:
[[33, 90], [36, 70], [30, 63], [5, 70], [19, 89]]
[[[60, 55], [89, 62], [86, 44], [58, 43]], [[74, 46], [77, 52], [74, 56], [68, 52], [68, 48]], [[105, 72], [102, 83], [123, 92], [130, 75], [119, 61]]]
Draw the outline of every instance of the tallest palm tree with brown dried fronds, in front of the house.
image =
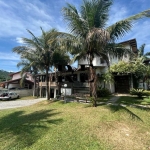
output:
[[92, 64], [94, 56], [102, 56], [107, 61], [106, 48], [114, 49], [110, 48], [110, 44], [113, 45], [117, 39], [130, 31], [134, 20], [150, 17], [150, 10], [146, 10], [107, 27], [111, 5], [112, 0], [83, 0], [80, 11], [69, 3], [62, 10], [71, 34], [79, 41], [75, 42], [75, 45], [80, 43], [77, 46], [79, 49], [73, 54], [76, 54], [76, 59], [86, 56], [89, 60], [90, 77], [94, 79], [90, 85], [92, 96], [95, 98], [94, 106], [97, 97], [97, 77]]

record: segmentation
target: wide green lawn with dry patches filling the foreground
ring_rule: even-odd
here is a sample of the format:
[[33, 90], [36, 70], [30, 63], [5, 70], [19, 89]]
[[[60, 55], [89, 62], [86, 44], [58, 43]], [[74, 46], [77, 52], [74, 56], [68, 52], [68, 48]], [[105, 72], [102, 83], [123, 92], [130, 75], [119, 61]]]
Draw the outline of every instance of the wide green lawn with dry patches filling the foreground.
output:
[[[150, 149], [150, 112], [43, 101], [0, 111], [1, 150]], [[132, 119], [133, 112], [139, 119]], [[138, 118], [137, 117], [137, 118]]]

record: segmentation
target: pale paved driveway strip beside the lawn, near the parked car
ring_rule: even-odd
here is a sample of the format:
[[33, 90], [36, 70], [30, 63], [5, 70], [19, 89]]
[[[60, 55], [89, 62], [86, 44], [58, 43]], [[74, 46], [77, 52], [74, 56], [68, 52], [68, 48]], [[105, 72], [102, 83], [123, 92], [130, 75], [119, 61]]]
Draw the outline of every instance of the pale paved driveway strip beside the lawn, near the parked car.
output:
[[30, 106], [40, 101], [45, 100], [46, 98], [38, 98], [32, 100], [11, 100], [11, 101], [0, 101], [0, 110], [9, 109], [9, 108], [18, 108], [24, 106]]

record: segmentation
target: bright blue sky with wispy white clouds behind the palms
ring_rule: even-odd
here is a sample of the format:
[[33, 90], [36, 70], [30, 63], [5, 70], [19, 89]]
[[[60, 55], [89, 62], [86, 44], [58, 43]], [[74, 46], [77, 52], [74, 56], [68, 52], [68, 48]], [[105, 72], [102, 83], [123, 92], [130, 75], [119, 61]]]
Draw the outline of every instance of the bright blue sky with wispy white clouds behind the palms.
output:
[[[21, 37], [30, 38], [26, 29], [36, 36], [41, 34], [40, 26], [68, 31], [61, 14], [66, 2], [76, 7], [82, 4], [82, 0], [0, 0], [0, 70], [19, 71], [16, 65], [20, 58], [12, 49], [22, 44]], [[114, 0], [108, 25], [146, 9], [150, 9], [149, 0]], [[145, 52], [150, 51], [150, 18], [135, 22], [120, 41], [132, 38], [138, 47], [145, 43]]]

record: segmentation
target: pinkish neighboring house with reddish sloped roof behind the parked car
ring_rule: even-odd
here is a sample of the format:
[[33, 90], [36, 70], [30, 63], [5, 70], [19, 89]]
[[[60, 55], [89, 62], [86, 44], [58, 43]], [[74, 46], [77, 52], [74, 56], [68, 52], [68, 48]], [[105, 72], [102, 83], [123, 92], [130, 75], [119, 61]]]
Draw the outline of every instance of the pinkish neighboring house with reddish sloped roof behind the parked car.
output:
[[7, 88], [9, 90], [21, 89], [21, 88], [32, 89], [33, 84], [34, 84], [32, 75], [30, 73], [26, 73], [26, 75], [27, 75], [27, 77], [24, 81], [24, 86], [21, 87], [21, 85], [20, 85], [20, 80], [22, 79], [21, 72], [19, 71], [19, 72], [10, 74], [11, 80], [5, 82], [5, 88]]

